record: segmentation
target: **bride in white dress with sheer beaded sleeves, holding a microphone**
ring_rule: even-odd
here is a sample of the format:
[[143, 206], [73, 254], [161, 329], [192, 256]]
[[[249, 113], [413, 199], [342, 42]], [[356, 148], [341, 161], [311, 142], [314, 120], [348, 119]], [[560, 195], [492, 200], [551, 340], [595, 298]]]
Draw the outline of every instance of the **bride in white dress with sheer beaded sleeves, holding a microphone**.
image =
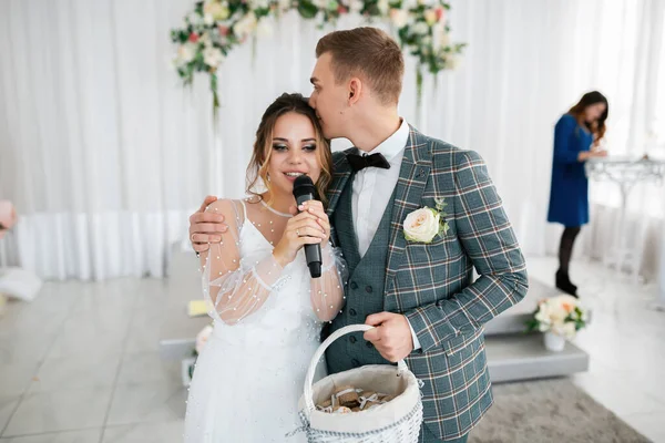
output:
[[[291, 216], [295, 178], [308, 175], [325, 199], [331, 175], [329, 144], [300, 94], [283, 94], [266, 110], [247, 172], [249, 198], [206, 209], [224, 215], [228, 230], [201, 254], [214, 332], [190, 387], [185, 442], [287, 441], [299, 426], [297, 402], [321, 324], [344, 305], [344, 264], [328, 245], [325, 200]], [[320, 278], [309, 276], [303, 251], [315, 244]]]

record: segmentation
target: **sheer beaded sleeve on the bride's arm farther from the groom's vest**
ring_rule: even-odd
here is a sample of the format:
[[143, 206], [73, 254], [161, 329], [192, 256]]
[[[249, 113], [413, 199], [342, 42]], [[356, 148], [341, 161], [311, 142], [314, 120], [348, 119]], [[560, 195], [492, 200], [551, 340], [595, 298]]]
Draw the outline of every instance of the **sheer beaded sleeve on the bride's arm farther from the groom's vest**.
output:
[[235, 324], [260, 309], [270, 292], [279, 289], [284, 269], [272, 251], [258, 257], [241, 257], [239, 231], [244, 217], [238, 212], [238, 203], [217, 200], [206, 210], [224, 215], [228, 230], [222, 234], [221, 243], [212, 244], [201, 254], [204, 299], [209, 305], [211, 317], [217, 319], [218, 316], [225, 323]]

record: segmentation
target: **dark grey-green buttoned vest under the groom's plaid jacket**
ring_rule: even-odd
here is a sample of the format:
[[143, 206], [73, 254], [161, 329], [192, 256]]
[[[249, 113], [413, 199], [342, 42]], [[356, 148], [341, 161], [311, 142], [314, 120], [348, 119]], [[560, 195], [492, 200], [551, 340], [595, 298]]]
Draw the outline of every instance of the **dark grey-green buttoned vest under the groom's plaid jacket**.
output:
[[[346, 305], [332, 323], [324, 331], [324, 338], [348, 324], [365, 323], [367, 316], [383, 310], [383, 284], [390, 241], [390, 219], [395, 193], [388, 202], [381, 223], [362, 258], [358, 253], [358, 241], [354, 228], [351, 209], [354, 174], [349, 177], [332, 214], [337, 239], [344, 251], [349, 270], [346, 289]], [[355, 332], [337, 339], [326, 351], [328, 372], [336, 373], [365, 364], [389, 364], [374, 346], [362, 339], [362, 332]]]

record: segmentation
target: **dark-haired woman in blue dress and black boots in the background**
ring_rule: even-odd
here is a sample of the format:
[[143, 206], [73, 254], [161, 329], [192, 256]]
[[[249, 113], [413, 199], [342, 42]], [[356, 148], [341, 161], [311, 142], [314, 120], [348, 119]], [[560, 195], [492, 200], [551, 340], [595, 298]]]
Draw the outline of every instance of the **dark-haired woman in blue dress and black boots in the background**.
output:
[[577, 287], [569, 277], [573, 244], [582, 225], [589, 223], [589, 182], [584, 163], [592, 157], [604, 157], [600, 147], [605, 135], [605, 120], [610, 106], [597, 91], [587, 92], [580, 102], [563, 114], [554, 127], [554, 156], [548, 222], [563, 225], [559, 246], [556, 287], [577, 297]]

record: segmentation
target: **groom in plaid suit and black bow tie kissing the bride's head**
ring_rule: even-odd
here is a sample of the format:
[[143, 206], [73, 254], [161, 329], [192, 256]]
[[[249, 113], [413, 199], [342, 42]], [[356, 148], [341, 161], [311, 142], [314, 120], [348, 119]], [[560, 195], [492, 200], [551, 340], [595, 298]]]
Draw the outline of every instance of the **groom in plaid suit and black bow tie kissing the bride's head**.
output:
[[[424, 382], [420, 441], [466, 442], [492, 404], [483, 324], [526, 293], [518, 240], [482, 158], [399, 117], [405, 65], [390, 37], [374, 28], [332, 32], [316, 55], [309, 103], [327, 138], [356, 146], [332, 154], [331, 239], [350, 274], [346, 306], [325, 333], [380, 326], [337, 340], [328, 370], [406, 359]], [[440, 225], [431, 212], [405, 224], [443, 205]], [[214, 217], [192, 215], [195, 250], [224, 229]]]

